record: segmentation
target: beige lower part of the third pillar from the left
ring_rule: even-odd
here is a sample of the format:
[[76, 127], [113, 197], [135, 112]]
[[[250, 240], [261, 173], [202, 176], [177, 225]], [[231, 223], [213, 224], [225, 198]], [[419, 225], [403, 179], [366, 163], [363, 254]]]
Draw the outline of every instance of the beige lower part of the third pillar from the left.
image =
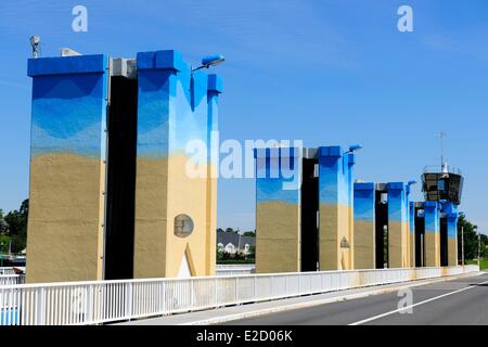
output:
[[300, 271], [300, 208], [260, 202], [256, 208], [256, 272]]

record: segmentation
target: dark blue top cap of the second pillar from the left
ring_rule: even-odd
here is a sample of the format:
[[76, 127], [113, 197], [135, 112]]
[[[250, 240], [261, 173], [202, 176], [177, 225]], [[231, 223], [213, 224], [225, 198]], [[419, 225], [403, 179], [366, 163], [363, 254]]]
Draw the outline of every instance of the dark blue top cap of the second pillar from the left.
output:
[[189, 69], [181, 54], [174, 50], [156, 52], [139, 52], [137, 55], [138, 69], [174, 69], [182, 72]]

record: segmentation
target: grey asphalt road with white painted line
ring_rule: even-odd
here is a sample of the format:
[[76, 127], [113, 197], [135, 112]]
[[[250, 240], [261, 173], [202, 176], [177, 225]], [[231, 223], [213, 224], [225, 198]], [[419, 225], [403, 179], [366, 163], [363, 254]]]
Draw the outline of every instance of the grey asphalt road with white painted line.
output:
[[[488, 273], [229, 325], [488, 325]], [[411, 298], [411, 300], [408, 300]], [[399, 301], [401, 305], [399, 306]], [[400, 313], [399, 308], [402, 310]]]

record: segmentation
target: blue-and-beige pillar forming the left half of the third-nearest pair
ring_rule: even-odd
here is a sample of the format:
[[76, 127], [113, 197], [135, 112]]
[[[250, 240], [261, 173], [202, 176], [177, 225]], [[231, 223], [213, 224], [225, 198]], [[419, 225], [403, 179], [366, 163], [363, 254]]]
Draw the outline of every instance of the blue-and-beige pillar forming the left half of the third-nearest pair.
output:
[[374, 269], [375, 196], [374, 183], [355, 183], [355, 268]]

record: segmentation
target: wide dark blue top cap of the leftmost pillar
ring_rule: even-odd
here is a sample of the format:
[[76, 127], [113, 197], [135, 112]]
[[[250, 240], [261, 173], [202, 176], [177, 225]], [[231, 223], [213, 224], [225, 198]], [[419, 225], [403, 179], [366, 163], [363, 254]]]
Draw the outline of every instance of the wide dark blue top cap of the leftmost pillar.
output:
[[101, 74], [106, 67], [104, 54], [38, 57], [27, 61], [27, 76]]

